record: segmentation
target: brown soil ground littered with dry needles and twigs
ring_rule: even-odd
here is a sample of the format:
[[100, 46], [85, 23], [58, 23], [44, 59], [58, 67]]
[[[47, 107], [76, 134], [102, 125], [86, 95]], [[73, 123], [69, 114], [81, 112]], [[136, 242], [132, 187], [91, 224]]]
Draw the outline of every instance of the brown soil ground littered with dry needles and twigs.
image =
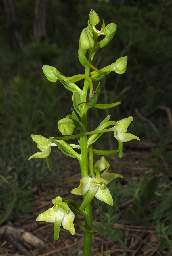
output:
[[[121, 168], [120, 173], [125, 177], [124, 183], [129, 182], [131, 170], [135, 170], [134, 178], [138, 181], [140, 180], [141, 173], [152, 172], [151, 168], [146, 167], [146, 162], [142, 161], [148, 154], [151, 154], [151, 151], [149, 152], [148, 149], [145, 150], [145, 146], [143, 146], [140, 152], [138, 154], [136, 150], [130, 151], [130, 153], [124, 153], [123, 159], [125, 160], [125, 166]], [[115, 170], [117, 164], [118, 166], [122, 165], [123, 161], [117, 155], [108, 156], [106, 159], [110, 163], [110, 172]], [[58, 241], [55, 241], [53, 238], [53, 223], [35, 221], [41, 212], [52, 207], [51, 200], [57, 195], [65, 199], [72, 198], [78, 203], [82, 202], [80, 195], [72, 195], [70, 193], [72, 188], [79, 185], [80, 176], [77, 174], [76, 167], [78, 164], [75, 159], [67, 156], [64, 156], [62, 161], [64, 162], [64, 160], [67, 161], [67, 164], [71, 168], [66, 171], [65, 177], [59, 176], [59, 181], [63, 185], [59, 186], [59, 183], [52, 181], [46, 188], [37, 189], [35, 195], [33, 195], [35, 197], [33, 212], [27, 216], [18, 215], [14, 218], [15, 221], [7, 222], [6, 225], [1, 227], [0, 256], [82, 256], [84, 232], [79, 229], [75, 220], [75, 235], [72, 236], [68, 230], [61, 228]], [[75, 170], [75, 172], [72, 170]], [[54, 195], [56, 196], [54, 197]], [[78, 215], [78, 217], [84, 225], [83, 217], [81, 215]], [[102, 218], [98, 215], [98, 209], [94, 202], [93, 220], [93, 229], [96, 229], [96, 224], [100, 223]], [[9, 227], [12, 227], [12, 230]], [[122, 230], [123, 238], [121, 240], [125, 240], [127, 249], [118, 239], [109, 241], [106, 238], [102, 238], [97, 232], [93, 233], [92, 256], [107, 256], [109, 253], [110, 256], [167, 255], [167, 251], [160, 251], [162, 238], [152, 234], [156, 229], [154, 226], [148, 227], [114, 223], [112, 228], [120, 228]], [[28, 232], [28, 237], [22, 236], [25, 231]], [[36, 238], [39, 238], [39, 240], [37, 244], [34, 244]]]

